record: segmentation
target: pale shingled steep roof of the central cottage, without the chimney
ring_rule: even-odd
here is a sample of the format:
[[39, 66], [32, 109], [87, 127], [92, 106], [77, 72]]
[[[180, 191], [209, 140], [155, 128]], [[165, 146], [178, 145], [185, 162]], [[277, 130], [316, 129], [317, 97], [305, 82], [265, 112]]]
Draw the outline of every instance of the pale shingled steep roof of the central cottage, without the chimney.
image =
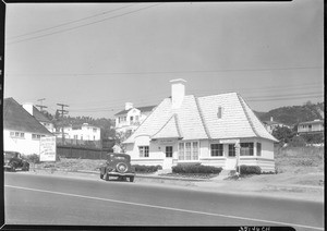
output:
[[[218, 107], [222, 108], [221, 118]], [[278, 142], [237, 93], [184, 96], [178, 109], [172, 109], [171, 98], [165, 98], [124, 143], [133, 143], [140, 135], [154, 139], [179, 135], [182, 139], [262, 137]]]

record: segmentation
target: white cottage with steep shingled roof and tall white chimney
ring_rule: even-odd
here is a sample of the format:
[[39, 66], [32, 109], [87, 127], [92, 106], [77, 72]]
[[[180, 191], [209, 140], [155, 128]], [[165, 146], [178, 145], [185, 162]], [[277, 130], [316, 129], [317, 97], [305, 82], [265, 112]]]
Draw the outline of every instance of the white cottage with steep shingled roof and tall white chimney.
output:
[[196, 97], [185, 95], [184, 80], [170, 82], [171, 97], [123, 142], [133, 165], [202, 163], [226, 170], [247, 165], [275, 171], [278, 141], [239, 94]]

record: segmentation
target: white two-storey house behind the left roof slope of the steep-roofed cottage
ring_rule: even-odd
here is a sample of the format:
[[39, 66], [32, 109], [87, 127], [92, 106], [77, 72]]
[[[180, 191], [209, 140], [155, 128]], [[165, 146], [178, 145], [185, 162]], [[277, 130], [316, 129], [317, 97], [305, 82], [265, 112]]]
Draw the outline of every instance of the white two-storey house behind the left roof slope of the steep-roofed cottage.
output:
[[132, 134], [155, 107], [156, 106], [136, 108], [132, 102], [125, 102], [125, 109], [114, 114], [116, 132]]

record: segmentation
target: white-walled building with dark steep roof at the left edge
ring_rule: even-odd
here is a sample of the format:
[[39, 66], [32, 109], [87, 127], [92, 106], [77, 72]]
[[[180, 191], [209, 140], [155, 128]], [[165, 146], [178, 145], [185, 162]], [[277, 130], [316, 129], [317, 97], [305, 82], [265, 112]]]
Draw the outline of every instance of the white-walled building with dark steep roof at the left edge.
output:
[[52, 137], [35, 117], [13, 98], [3, 100], [3, 149], [39, 155], [40, 137]]

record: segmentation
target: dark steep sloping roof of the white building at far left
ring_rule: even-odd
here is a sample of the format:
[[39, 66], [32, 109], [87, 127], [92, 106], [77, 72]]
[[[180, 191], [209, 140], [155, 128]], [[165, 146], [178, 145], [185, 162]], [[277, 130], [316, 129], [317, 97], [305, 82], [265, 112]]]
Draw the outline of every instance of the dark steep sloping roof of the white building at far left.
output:
[[3, 129], [53, 135], [13, 98], [3, 99]]

